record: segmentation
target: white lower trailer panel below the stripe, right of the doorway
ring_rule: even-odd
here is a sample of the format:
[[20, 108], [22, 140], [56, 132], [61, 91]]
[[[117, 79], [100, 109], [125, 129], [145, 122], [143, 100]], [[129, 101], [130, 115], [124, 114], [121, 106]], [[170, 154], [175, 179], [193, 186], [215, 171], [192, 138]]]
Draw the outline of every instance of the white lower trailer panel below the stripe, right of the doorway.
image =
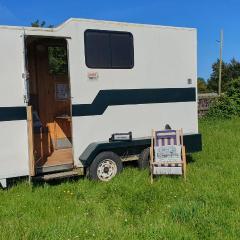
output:
[[[195, 102], [113, 106], [103, 115], [73, 118], [74, 155], [78, 159], [92, 142], [108, 141], [112, 133], [133, 132], [133, 138], [150, 137], [152, 129], [183, 128], [197, 133]], [[78, 161], [76, 164], [79, 165]]]

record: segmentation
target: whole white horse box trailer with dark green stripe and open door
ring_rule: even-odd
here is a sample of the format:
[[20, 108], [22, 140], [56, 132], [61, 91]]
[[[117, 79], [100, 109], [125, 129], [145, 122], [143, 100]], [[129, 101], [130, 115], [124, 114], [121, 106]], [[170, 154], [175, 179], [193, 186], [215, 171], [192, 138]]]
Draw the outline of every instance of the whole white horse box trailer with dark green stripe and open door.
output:
[[0, 26], [0, 43], [2, 186], [110, 180], [123, 161], [146, 164], [151, 129], [166, 125], [183, 129], [188, 153], [201, 150], [195, 29], [69, 19]]

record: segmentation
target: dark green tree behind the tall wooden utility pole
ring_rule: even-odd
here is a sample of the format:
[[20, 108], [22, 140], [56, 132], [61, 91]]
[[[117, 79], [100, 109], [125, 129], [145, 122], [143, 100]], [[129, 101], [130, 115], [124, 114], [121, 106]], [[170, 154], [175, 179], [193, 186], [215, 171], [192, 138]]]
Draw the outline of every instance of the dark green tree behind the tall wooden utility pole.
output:
[[[222, 63], [222, 92], [226, 92], [230, 82], [240, 77], [240, 62], [232, 59], [230, 63]], [[212, 65], [212, 74], [208, 80], [208, 88], [211, 91], [218, 91], [219, 81], [219, 59]]]

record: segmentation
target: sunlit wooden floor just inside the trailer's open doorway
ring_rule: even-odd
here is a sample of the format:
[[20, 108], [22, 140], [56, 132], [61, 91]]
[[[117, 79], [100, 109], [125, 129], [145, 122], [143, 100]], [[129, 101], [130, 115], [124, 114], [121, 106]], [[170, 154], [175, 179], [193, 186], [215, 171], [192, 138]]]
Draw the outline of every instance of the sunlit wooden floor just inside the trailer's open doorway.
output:
[[59, 166], [73, 164], [72, 148], [58, 149], [47, 158], [37, 162], [37, 167]]

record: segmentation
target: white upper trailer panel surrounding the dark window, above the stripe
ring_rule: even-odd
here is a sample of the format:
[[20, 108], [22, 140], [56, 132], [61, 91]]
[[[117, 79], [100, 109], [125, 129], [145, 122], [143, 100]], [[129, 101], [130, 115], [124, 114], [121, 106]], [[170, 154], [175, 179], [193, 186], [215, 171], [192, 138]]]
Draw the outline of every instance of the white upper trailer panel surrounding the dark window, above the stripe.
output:
[[[172, 28], [72, 23], [69, 41], [73, 103], [91, 103], [102, 89], [187, 88], [197, 86], [196, 31]], [[89, 69], [85, 64], [86, 29], [128, 31], [134, 38], [133, 69]], [[97, 72], [97, 80], [88, 73]], [[192, 84], [188, 84], [188, 79]]]

